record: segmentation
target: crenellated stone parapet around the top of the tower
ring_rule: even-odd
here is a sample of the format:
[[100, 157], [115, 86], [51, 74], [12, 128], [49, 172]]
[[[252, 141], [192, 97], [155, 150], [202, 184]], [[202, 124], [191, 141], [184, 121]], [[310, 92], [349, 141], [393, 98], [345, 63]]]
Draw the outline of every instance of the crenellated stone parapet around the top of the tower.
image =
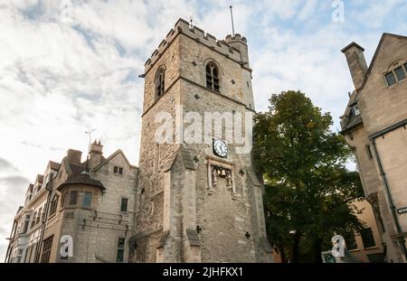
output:
[[231, 40], [233, 42], [241, 42], [242, 44], [246, 44], [246, 38], [241, 37], [240, 34], [236, 33], [234, 37], [228, 35], [225, 40], [217, 40], [215, 36], [210, 33], [205, 33], [202, 29], [197, 26], [190, 27], [190, 24], [183, 19], [179, 19], [175, 23], [175, 27], [166, 35], [166, 39], [164, 39], [159, 45], [158, 48], [151, 54], [151, 57], [145, 63], [145, 73], [150, 70], [156, 61], [161, 57], [162, 53], [166, 51], [166, 48], [175, 40], [178, 34], [185, 34], [186, 36], [190, 37], [196, 42], [200, 42], [211, 48], [215, 52], [219, 52], [227, 58], [232, 59], [233, 61], [237, 61], [244, 65], [247, 61], [245, 60], [245, 56], [241, 55], [241, 51], [232, 46], [232, 44], [228, 43]]

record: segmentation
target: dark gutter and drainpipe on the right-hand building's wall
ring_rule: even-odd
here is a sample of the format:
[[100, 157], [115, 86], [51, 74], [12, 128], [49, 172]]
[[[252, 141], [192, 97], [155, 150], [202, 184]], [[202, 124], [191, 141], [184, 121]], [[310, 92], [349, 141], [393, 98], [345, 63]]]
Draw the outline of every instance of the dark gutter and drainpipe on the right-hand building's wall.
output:
[[405, 247], [405, 239], [404, 236], [402, 235], [402, 227], [400, 226], [400, 221], [399, 218], [397, 217], [397, 213], [396, 213], [396, 208], [394, 206], [394, 202], [392, 199], [392, 194], [390, 192], [390, 186], [389, 183], [387, 181], [387, 177], [386, 177], [386, 173], [383, 170], [383, 164], [382, 164], [382, 160], [380, 158], [379, 152], [377, 151], [377, 147], [376, 147], [376, 138], [386, 135], [387, 133], [392, 132], [393, 130], [396, 130], [400, 127], [404, 127], [404, 129], [406, 128], [407, 125], [407, 119], [403, 120], [402, 122], [396, 123], [392, 126], [388, 126], [387, 128], [375, 133], [372, 136], [369, 136], [370, 141], [372, 142], [373, 148], [374, 148], [374, 156], [376, 158], [377, 164], [379, 166], [379, 171], [380, 171], [380, 175], [382, 176], [383, 179], [383, 183], [384, 183], [384, 190], [386, 192], [387, 195], [387, 199], [390, 202], [390, 211], [392, 213], [392, 217], [394, 220], [394, 224], [397, 230], [397, 234], [395, 235], [395, 237], [397, 237], [398, 241], [399, 241], [399, 245], [402, 248], [402, 254], [404, 255], [404, 258], [407, 259], [407, 249]]

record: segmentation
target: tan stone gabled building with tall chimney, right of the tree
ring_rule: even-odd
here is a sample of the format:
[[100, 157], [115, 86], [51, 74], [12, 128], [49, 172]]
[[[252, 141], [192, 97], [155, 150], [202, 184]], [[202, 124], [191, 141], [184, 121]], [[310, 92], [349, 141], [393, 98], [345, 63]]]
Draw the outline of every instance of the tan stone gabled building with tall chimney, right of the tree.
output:
[[406, 262], [407, 37], [384, 33], [369, 67], [355, 42], [342, 52], [355, 84], [342, 133], [355, 152], [387, 261]]

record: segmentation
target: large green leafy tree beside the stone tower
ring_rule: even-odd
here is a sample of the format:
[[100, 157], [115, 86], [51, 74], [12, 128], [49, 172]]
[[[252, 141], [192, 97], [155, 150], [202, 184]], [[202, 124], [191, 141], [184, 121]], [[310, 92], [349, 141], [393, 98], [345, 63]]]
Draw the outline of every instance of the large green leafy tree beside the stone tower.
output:
[[363, 196], [352, 154], [322, 114], [299, 91], [272, 95], [269, 111], [255, 117], [254, 155], [263, 174], [270, 242], [290, 262], [320, 262], [333, 235], [362, 227], [352, 204]]

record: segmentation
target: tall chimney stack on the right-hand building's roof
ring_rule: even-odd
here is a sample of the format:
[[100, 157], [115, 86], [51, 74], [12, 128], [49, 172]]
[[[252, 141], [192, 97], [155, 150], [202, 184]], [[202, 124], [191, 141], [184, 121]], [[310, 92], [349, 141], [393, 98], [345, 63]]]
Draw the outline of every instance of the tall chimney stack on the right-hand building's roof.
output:
[[367, 71], [366, 60], [364, 59], [364, 48], [355, 42], [347, 45], [343, 50], [345, 53], [347, 65], [354, 80], [355, 89], [359, 89], [364, 81], [364, 75]]

